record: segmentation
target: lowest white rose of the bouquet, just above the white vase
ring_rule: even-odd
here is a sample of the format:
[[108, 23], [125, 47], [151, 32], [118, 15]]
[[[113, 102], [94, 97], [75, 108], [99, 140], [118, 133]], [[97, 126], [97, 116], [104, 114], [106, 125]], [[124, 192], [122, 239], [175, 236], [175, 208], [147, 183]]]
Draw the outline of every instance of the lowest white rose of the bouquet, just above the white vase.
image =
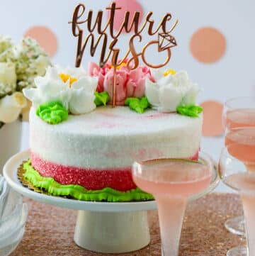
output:
[[0, 121], [4, 123], [16, 121], [26, 104], [26, 98], [21, 92], [15, 92], [11, 96], [7, 95], [0, 99]]

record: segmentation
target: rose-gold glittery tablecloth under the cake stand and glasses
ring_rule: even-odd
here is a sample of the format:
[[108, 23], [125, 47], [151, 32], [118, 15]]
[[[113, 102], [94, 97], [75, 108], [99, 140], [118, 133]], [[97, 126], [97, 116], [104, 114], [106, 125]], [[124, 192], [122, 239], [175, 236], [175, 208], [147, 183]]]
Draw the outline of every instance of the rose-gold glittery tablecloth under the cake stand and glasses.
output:
[[[77, 211], [25, 199], [29, 206], [26, 233], [11, 256], [102, 256], [73, 241]], [[210, 194], [188, 205], [180, 242], [181, 256], [225, 256], [245, 240], [224, 228], [227, 218], [242, 214], [239, 196]], [[157, 211], [149, 212], [151, 243], [130, 256], [161, 256]], [[109, 254], [107, 254], [109, 255]], [[105, 255], [105, 256], [107, 256]]]

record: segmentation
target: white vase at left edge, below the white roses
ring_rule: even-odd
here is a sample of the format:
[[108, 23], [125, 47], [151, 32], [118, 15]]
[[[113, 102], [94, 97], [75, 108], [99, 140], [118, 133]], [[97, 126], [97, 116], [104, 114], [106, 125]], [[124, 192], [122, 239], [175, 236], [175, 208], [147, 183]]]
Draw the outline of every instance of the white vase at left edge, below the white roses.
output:
[[0, 174], [6, 161], [21, 148], [21, 121], [7, 123], [0, 128]]

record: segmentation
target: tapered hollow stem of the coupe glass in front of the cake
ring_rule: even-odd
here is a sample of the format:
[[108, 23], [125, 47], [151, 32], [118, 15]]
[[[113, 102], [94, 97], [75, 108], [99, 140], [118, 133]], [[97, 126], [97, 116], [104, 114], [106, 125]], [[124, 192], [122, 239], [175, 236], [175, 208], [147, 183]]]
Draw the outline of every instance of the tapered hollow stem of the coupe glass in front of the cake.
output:
[[181, 196], [155, 196], [159, 213], [162, 255], [178, 256], [181, 226], [187, 199]]

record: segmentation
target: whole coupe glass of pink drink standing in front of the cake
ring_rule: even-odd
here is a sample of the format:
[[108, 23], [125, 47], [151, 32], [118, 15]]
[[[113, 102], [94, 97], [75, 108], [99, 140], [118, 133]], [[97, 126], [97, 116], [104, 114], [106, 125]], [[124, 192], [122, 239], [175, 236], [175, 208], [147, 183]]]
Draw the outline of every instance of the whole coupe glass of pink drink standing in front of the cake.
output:
[[135, 183], [157, 201], [162, 255], [178, 256], [187, 201], [208, 189], [213, 171], [211, 158], [203, 152], [198, 161], [166, 158], [133, 164]]

